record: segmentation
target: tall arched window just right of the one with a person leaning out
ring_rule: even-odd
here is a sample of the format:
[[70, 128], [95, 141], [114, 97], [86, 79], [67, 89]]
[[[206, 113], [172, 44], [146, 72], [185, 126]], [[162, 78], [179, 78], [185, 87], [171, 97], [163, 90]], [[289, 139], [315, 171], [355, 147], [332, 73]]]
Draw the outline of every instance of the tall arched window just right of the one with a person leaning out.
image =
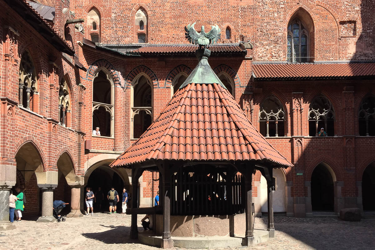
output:
[[132, 138], [139, 138], [152, 123], [152, 83], [143, 74], [132, 84]]

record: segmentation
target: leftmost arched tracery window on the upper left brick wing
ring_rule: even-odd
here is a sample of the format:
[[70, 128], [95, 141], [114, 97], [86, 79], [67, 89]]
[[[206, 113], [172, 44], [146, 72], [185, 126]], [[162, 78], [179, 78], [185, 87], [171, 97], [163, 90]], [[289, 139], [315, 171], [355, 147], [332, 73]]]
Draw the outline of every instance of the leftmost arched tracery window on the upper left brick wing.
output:
[[36, 94], [36, 71], [28, 51], [21, 57], [19, 71], [19, 101], [24, 108], [36, 111], [34, 94]]

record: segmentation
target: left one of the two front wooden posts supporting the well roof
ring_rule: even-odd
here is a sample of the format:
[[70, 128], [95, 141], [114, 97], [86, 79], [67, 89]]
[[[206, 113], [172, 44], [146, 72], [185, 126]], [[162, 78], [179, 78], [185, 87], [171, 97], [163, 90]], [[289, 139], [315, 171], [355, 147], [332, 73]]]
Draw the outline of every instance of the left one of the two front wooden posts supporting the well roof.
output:
[[173, 247], [171, 238], [171, 174], [169, 171], [169, 164], [163, 164], [163, 178], [162, 178], [162, 195], [163, 195], [163, 232], [161, 247]]

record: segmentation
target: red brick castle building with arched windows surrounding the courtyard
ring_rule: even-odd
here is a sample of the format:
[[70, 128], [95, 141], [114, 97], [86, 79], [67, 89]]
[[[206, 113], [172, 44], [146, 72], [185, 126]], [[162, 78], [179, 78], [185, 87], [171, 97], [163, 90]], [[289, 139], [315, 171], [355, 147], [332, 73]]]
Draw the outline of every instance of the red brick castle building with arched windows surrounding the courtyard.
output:
[[[196, 66], [183, 31], [193, 22], [198, 31], [219, 25], [211, 67], [294, 164], [274, 173], [275, 213], [375, 210], [373, 1], [1, 3], [0, 194], [25, 189], [26, 215], [51, 215], [43, 196], [71, 202], [74, 216], [84, 186], [130, 187], [130, 171], [108, 165]], [[322, 127], [327, 136], [316, 136]], [[254, 176], [258, 214], [267, 210], [262, 178]], [[157, 180], [139, 179], [131, 195], [141, 206], [152, 204]]]

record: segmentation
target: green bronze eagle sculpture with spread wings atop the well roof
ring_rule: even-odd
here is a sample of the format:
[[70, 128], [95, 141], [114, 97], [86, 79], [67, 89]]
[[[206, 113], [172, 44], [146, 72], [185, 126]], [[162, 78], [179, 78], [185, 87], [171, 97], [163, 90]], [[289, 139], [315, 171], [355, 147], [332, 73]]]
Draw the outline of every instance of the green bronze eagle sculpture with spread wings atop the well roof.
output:
[[204, 26], [202, 25], [201, 32], [197, 32], [194, 28], [193, 24], [189, 24], [185, 26], [185, 37], [189, 40], [192, 44], [198, 44], [199, 47], [208, 46], [209, 44], [213, 44], [220, 39], [220, 28], [217, 25], [211, 25], [211, 30], [208, 33], [204, 32]]

